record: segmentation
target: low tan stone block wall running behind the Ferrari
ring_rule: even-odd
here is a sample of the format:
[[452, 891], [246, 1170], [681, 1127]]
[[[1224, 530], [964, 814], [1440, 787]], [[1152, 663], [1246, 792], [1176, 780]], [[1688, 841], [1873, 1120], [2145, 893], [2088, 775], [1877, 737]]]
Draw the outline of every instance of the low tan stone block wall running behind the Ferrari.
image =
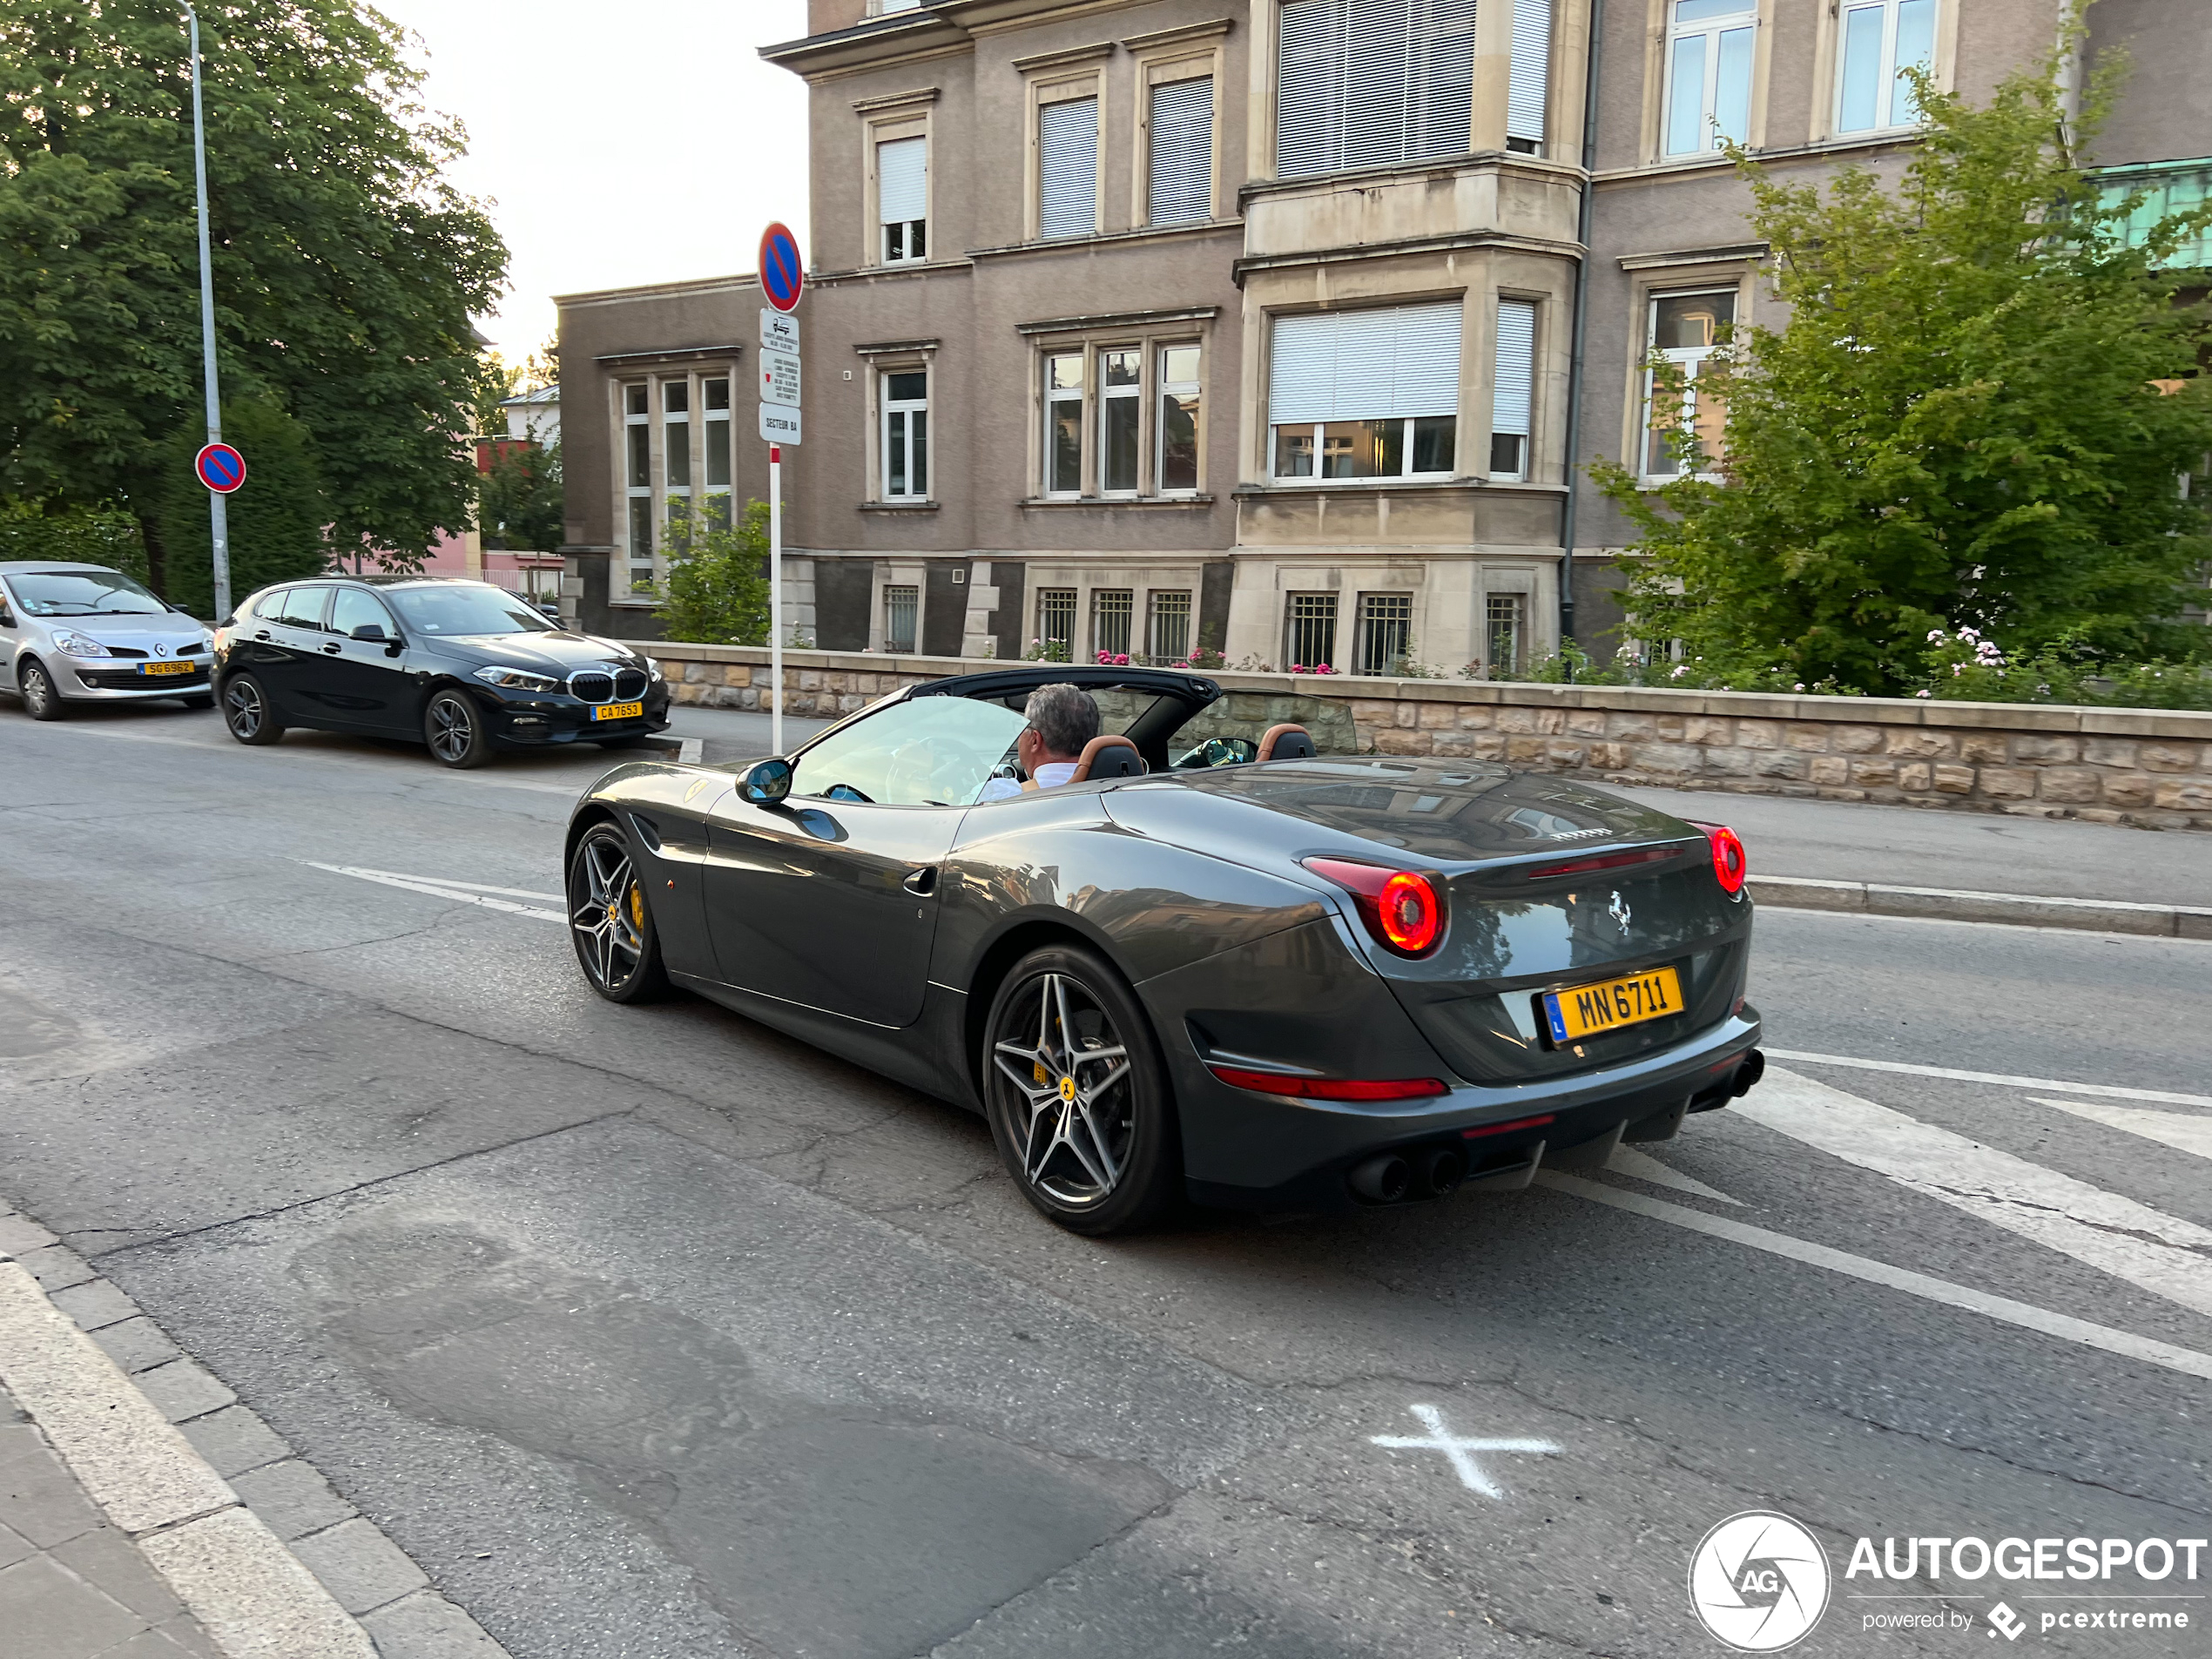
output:
[[[681, 703], [761, 708], [768, 650], [639, 641]], [[1006, 668], [785, 653], [785, 712], [834, 717], [900, 686]], [[1613, 783], [2212, 830], [2212, 714], [1630, 686], [1217, 672], [1230, 692], [1349, 706], [1358, 748], [1506, 761]], [[1340, 730], [1340, 721], [1327, 721]]]

